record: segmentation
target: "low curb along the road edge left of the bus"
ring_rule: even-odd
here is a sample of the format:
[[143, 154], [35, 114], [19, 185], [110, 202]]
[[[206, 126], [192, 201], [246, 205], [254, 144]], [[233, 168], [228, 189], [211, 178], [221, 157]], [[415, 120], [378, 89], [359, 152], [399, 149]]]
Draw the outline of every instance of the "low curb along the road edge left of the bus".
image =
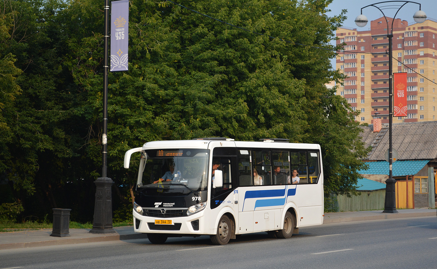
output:
[[80, 243], [91, 243], [91, 242], [145, 239], [145, 238], [147, 238], [146, 234], [130, 234], [130, 235], [116, 234], [116, 235], [104, 235], [104, 236], [87, 237], [87, 238], [68, 238], [68, 239], [64, 238], [64, 239], [52, 239], [52, 240], [37, 241], [37, 242], [0, 244], [0, 250], [30, 248], [30, 247], [50, 246], [50, 245], [69, 245], [69, 244], [80, 244]]

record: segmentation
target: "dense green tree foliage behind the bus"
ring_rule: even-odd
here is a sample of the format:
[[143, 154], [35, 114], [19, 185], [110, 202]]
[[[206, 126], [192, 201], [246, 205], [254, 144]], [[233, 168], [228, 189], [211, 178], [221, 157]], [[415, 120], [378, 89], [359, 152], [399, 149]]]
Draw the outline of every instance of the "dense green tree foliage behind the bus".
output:
[[[320, 143], [326, 193], [353, 194], [366, 150], [357, 112], [325, 86], [343, 79], [330, 66], [329, 42], [345, 17], [326, 15], [331, 1], [130, 1], [129, 71], [110, 73], [108, 86], [116, 207], [132, 200], [126, 150], [209, 136]], [[1, 182], [27, 212], [36, 199], [41, 214], [55, 206], [74, 216], [84, 204], [92, 209], [100, 175], [102, 3], [3, 5]]]

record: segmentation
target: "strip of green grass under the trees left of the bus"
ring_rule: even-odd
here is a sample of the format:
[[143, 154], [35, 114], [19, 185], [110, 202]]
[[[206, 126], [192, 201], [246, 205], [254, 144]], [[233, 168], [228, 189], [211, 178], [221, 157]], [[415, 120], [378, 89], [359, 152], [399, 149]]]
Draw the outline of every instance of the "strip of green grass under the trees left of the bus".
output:
[[[124, 227], [124, 226], [133, 226], [132, 222], [123, 221], [123, 222], [114, 222], [112, 227]], [[38, 223], [34, 221], [26, 221], [23, 223], [14, 223], [11, 221], [0, 221], [0, 232], [17, 232], [17, 231], [35, 231], [39, 229], [52, 229], [52, 223]], [[91, 229], [93, 228], [93, 224], [90, 222], [87, 223], [79, 223], [76, 221], [70, 221], [70, 229]]]

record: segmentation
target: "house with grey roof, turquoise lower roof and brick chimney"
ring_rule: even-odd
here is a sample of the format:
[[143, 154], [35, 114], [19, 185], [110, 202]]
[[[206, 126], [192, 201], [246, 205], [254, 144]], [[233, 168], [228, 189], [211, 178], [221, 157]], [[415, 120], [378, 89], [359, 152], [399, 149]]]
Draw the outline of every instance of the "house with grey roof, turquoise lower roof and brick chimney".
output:
[[[362, 140], [371, 152], [364, 160], [369, 165], [360, 173], [365, 179], [384, 184], [389, 166], [385, 153], [388, 150], [388, 124], [374, 119], [362, 126]], [[392, 124], [392, 174], [396, 180], [396, 208], [435, 208], [437, 171], [437, 121]]]

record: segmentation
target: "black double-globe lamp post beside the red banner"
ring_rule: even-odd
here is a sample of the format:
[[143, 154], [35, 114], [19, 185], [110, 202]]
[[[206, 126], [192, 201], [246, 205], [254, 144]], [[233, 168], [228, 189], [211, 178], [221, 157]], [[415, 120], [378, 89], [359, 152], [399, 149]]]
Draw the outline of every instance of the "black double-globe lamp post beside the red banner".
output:
[[[380, 5], [380, 7], [376, 6], [378, 4], [385, 4], [385, 3], [392, 3], [396, 2], [397, 5], [391, 5], [391, 6], [384, 6]], [[368, 19], [366, 16], [363, 15], [363, 9], [366, 7], [376, 7], [379, 11], [381, 11], [382, 15], [385, 18], [385, 22], [387, 23], [387, 37], [388, 37], [388, 91], [389, 91], [389, 97], [388, 97], [388, 106], [389, 106], [389, 115], [388, 115], [388, 136], [389, 136], [389, 145], [388, 145], [388, 163], [389, 163], [389, 175], [388, 179], [385, 180], [386, 187], [385, 187], [385, 204], [384, 204], [384, 211], [382, 213], [398, 213], [396, 210], [396, 193], [395, 193], [395, 183], [396, 180], [393, 179], [393, 173], [392, 173], [392, 163], [393, 163], [393, 155], [392, 155], [392, 122], [393, 122], [393, 69], [392, 69], [392, 38], [393, 38], [393, 22], [395, 21], [395, 17], [398, 14], [399, 10], [405, 6], [407, 3], [416, 3], [416, 2], [410, 2], [410, 1], [384, 1], [384, 2], [378, 2], [374, 3], [365, 7], [361, 8], [361, 15], [358, 15], [355, 19], [355, 23], [358, 27], [364, 27]], [[423, 23], [427, 19], [427, 15], [425, 12], [421, 10], [420, 3], [416, 3], [419, 5], [419, 10], [414, 13], [413, 18], [416, 23]], [[395, 13], [395, 16], [393, 16], [392, 19], [392, 27], [390, 28], [388, 25], [387, 17], [385, 17], [384, 12], [382, 9], [398, 9]]]

